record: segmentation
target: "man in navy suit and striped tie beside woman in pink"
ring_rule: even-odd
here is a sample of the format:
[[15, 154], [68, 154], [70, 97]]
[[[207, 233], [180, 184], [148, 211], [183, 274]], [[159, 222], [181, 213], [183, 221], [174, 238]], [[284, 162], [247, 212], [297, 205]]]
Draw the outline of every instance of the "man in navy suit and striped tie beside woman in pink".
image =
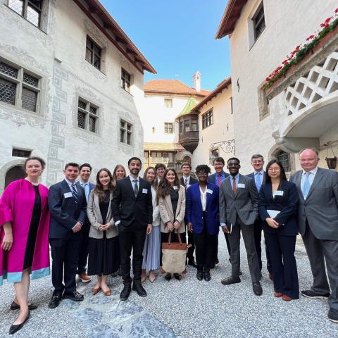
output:
[[49, 243], [53, 259], [51, 282], [54, 286], [49, 308], [56, 308], [61, 297], [83, 301], [82, 294], [76, 291], [75, 282], [81, 243], [80, 230], [87, 207], [84, 189], [75, 184], [79, 172], [80, 166], [77, 163], [67, 163], [63, 170], [65, 179], [49, 188]]

